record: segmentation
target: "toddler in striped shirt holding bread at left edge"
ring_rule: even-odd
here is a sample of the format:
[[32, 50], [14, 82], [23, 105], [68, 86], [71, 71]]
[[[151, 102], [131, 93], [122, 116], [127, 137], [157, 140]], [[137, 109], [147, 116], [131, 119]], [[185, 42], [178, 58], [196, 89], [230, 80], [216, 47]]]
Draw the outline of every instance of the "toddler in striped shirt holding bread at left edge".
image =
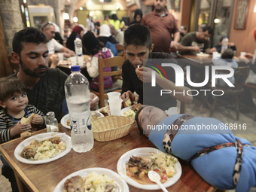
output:
[[[17, 78], [0, 78], [0, 142], [8, 142], [20, 136], [20, 133], [31, 131], [29, 123], [20, 123], [22, 117], [29, 117], [33, 113], [31, 123], [38, 128], [45, 127], [41, 111], [34, 105], [28, 105], [26, 87]], [[3, 157], [1, 157], [2, 175], [9, 179], [13, 191], [18, 191], [14, 172]]]

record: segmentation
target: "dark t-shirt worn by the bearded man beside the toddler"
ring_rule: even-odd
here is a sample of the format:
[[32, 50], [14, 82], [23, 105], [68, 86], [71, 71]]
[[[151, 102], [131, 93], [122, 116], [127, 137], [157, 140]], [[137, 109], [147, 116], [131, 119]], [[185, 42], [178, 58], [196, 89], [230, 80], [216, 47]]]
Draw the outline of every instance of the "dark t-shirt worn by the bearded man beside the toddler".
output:
[[[17, 73], [12, 76], [17, 78]], [[62, 102], [66, 99], [64, 84], [67, 77], [68, 75], [59, 69], [47, 69], [44, 77], [40, 78], [33, 90], [27, 90], [29, 104], [34, 105], [44, 114], [53, 111], [60, 122], [63, 116]]]

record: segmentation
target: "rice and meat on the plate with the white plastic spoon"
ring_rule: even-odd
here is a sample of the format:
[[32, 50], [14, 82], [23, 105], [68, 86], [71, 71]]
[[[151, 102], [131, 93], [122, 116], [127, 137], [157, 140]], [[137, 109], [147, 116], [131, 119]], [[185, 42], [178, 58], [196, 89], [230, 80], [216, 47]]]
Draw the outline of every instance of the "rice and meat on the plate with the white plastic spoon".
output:
[[154, 170], [160, 175], [160, 182], [165, 183], [175, 174], [176, 162], [176, 157], [163, 152], [150, 156], [132, 156], [126, 163], [126, 175], [140, 184], [154, 184], [148, 178], [148, 172]]

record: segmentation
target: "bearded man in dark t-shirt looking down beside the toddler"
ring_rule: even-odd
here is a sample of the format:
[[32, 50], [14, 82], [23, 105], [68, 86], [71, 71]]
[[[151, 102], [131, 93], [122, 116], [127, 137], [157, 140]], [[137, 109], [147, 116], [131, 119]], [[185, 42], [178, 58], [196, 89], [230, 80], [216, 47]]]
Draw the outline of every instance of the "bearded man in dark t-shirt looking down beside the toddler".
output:
[[[58, 121], [66, 114], [64, 84], [67, 75], [59, 69], [48, 69], [47, 38], [35, 28], [23, 29], [14, 35], [14, 62], [20, 64], [20, 70], [14, 77], [23, 81], [27, 89], [29, 104], [35, 105], [44, 114], [53, 111]], [[98, 105], [99, 99], [91, 93], [91, 108]]]

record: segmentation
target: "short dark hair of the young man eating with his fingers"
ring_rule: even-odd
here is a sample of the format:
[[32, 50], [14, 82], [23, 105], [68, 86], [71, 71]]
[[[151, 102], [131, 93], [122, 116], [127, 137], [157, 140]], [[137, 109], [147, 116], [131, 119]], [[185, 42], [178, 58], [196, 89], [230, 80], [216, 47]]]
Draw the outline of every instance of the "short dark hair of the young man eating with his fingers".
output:
[[135, 46], [146, 46], [148, 49], [151, 48], [152, 41], [151, 41], [151, 31], [148, 29], [147, 26], [143, 26], [142, 24], [133, 24], [129, 26], [124, 31], [124, 38], [123, 38], [123, 45], [124, 48], [130, 44]]

